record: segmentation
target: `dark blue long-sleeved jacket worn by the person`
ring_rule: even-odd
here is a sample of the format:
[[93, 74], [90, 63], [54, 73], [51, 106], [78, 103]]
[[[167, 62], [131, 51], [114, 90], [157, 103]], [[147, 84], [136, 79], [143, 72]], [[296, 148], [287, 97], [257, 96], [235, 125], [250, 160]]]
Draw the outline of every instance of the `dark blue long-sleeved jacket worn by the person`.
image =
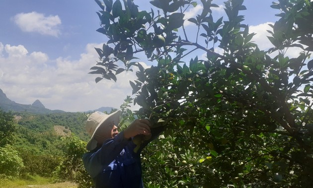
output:
[[143, 188], [140, 152], [163, 130], [162, 127], [156, 129], [137, 153], [134, 152], [136, 145], [131, 139], [126, 140], [123, 132], [85, 153], [83, 164], [95, 188]]

